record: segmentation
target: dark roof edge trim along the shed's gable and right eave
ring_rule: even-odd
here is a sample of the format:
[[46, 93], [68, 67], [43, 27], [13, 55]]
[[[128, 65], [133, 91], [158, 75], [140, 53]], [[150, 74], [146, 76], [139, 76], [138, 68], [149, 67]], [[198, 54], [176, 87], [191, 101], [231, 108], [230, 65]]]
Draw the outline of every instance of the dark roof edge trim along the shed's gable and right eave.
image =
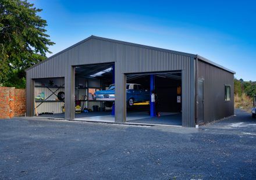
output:
[[74, 48], [77, 45], [83, 44], [83, 42], [86, 42], [86, 41], [88, 41], [90, 39], [99, 39], [99, 40], [102, 40], [102, 41], [109, 41], [109, 42], [115, 42], [115, 43], [118, 43], [118, 44], [137, 46], [137, 47], [140, 47], [140, 48], [152, 49], [152, 50], [155, 50], [155, 51], [162, 51], [162, 52], [175, 53], [177, 55], [190, 56], [190, 57], [198, 58], [198, 59], [202, 60], [203, 62], [212, 64], [213, 66], [219, 67], [219, 68], [221, 68], [223, 70], [229, 71], [230, 73], [236, 74], [234, 71], [229, 70], [229, 69], [227, 69], [227, 68], [225, 68], [225, 67], [223, 67], [223, 66], [221, 66], [221, 65], [219, 65], [217, 63], [211, 62], [210, 60], [208, 60], [208, 59], [206, 59], [206, 58], [204, 58], [202, 56], [199, 56], [199, 55], [194, 55], [194, 54], [191, 54], [191, 53], [185, 53], [185, 52], [179, 52], [179, 51], [172, 51], [172, 50], [163, 49], [163, 48], [156, 48], [156, 47], [153, 47], [153, 46], [141, 45], [141, 44], [136, 44], [136, 43], [131, 43], [131, 42], [119, 41], [119, 40], [115, 40], [115, 39], [102, 38], [102, 37], [97, 37], [95, 35], [91, 35], [90, 37], [84, 39], [83, 41], [77, 42], [76, 44], [70, 46], [69, 48], [66, 48], [66, 49], [62, 50], [61, 52], [58, 52], [55, 55], [52, 55], [52, 56], [48, 57], [47, 59], [43, 60], [42, 62], [34, 64], [33, 66], [31, 66], [28, 69], [26, 69], [26, 71], [30, 70], [30, 69], [33, 69], [34, 67], [40, 65], [41, 63], [44, 63], [44, 62], [54, 58], [55, 56], [60, 55], [63, 52], [69, 51], [69, 49], [72, 49], [72, 48]]

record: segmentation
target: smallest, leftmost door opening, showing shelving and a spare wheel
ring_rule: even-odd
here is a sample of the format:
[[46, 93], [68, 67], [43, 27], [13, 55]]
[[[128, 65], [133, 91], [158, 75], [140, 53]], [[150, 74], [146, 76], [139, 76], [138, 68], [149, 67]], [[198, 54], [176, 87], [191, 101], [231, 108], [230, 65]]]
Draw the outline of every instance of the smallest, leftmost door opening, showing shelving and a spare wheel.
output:
[[65, 118], [64, 78], [41, 78], [34, 82], [34, 115]]

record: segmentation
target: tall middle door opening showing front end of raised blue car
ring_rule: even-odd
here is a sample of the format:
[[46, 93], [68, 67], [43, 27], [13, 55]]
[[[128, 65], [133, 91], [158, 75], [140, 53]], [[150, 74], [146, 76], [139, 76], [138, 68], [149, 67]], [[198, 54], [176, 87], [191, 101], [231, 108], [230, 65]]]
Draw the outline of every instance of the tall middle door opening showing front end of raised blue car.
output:
[[75, 67], [75, 120], [115, 122], [115, 65]]

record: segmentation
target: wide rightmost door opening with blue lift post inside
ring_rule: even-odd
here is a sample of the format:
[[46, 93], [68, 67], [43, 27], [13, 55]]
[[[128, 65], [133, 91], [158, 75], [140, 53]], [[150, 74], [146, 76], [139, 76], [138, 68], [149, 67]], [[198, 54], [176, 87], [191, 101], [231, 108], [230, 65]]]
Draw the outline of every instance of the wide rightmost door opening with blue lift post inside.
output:
[[127, 74], [128, 123], [182, 125], [182, 73]]

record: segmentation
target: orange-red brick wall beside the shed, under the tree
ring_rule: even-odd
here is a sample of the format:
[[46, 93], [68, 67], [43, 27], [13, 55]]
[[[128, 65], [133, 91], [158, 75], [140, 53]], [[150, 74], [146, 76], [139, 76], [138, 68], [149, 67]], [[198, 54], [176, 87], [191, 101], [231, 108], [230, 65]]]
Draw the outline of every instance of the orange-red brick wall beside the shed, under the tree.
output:
[[26, 112], [26, 89], [0, 87], [0, 118], [24, 116]]

